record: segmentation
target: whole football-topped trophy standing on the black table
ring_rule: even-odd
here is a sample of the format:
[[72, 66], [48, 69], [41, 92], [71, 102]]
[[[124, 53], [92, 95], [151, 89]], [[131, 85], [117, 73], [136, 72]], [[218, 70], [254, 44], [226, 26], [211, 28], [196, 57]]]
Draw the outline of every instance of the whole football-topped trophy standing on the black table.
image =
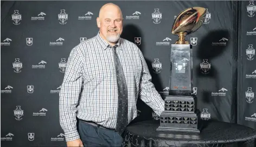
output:
[[165, 97], [164, 111], [160, 115], [157, 131], [197, 132], [199, 111], [193, 92], [192, 46], [185, 36], [203, 24], [206, 9], [192, 7], [183, 10], [175, 19], [172, 34], [178, 35], [171, 44], [169, 95]]

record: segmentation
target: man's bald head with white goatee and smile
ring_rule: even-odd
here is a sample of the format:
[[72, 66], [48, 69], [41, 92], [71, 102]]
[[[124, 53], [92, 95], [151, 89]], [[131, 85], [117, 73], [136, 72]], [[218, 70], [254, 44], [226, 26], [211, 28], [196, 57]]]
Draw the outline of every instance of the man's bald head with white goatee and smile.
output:
[[118, 5], [107, 3], [103, 5], [97, 18], [100, 36], [110, 44], [115, 44], [123, 31], [123, 15]]

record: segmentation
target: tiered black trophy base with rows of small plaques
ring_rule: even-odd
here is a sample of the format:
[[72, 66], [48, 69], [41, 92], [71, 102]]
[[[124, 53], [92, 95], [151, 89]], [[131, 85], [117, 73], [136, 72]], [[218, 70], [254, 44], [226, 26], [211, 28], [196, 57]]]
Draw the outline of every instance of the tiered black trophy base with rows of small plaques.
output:
[[195, 132], [198, 129], [199, 111], [195, 110], [196, 96], [167, 96], [160, 115], [157, 131]]

